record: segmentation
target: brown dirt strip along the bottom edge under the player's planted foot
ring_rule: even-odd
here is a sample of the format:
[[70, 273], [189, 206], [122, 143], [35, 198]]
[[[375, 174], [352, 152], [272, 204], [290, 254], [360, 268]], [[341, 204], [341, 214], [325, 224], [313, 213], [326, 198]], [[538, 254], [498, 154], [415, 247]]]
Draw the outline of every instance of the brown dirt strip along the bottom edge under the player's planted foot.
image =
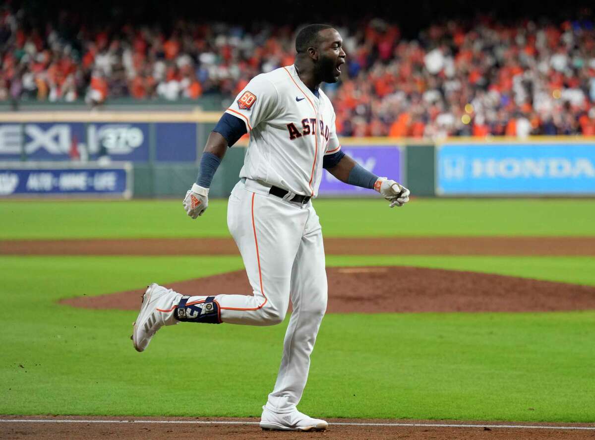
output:
[[[24, 417], [2, 417], [2, 419], [23, 419]], [[152, 417], [26, 417], [27, 419], [52, 419], [52, 420], [165, 420]], [[184, 422], [209, 422], [214, 419], [174, 419]], [[258, 419], [216, 419], [231, 422], [258, 422]], [[536, 439], [593, 439], [595, 430], [571, 429], [536, 429], [536, 428], [506, 428], [489, 427], [485, 425], [506, 425], [499, 422], [452, 422], [432, 420], [362, 420], [362, 419], [330, 419], [329, 429], [324, 432], [277, 432], [263, 431], [258, 425], [203, 425], [203, 424], [175, 424], [175, 423], [31, 423], [14, 422], [0, 423], [0, 438], [2, 439], [105, 439], [125, 438], [134, 440], [145, 439], [316, 439], [316, 440], [380, 440], [380, 439], [408, 439], [408, 440], [536, 440]], [[339, 423], [423, 423], [423, 424], [469, 424], [480, 425], [476, 427], [437, 427], [437, 426], [345, 426], [333, 425]], [[552, 423], [519, 423], [515, 425], [555, 426]], [[573, 425], [564, 423], [563, 426], [588, 426], [584, 424]], [[590, 426], [593, 427], [593, 426]]]

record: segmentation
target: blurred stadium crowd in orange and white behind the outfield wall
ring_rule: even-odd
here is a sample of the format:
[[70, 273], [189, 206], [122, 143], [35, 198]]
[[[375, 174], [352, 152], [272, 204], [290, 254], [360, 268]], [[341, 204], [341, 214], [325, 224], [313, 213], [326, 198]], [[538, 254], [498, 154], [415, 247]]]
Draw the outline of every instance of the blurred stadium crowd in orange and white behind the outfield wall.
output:
[[[27, 25], [0, 11], [0, 101], [226, 101], [292, 64], [294, 31], [177, 21], [160, 27]], [[63, 26], [62, 26], [63, 25]], [[593, 23], [445, 21], [403, 39], [383, 20], [338, 26], [342, 80], [323, 88], [347, 136], [595, 135]]]

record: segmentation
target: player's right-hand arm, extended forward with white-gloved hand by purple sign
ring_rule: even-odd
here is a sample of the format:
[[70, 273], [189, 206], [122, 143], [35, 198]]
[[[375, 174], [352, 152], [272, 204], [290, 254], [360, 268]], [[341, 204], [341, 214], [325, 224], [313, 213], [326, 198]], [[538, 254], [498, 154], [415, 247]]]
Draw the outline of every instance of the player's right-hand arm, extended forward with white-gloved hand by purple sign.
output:
[[341, 150], [325, 155], [322, 159], [322, 167], [341, 182], [375, 189], [390, 202], [391, 208], [402, 206], [409, 201], [409, 190], [405, 186], [386, 177], [378, 177]]

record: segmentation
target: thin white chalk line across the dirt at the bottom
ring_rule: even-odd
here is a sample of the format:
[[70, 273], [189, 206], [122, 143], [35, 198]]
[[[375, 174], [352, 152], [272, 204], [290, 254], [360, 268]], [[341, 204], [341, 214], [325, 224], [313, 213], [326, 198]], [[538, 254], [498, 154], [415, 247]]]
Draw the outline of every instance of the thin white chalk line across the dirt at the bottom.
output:
[[[259, 422], [230, 420], [43, 420], [43, 419], [0, 419], [0, 423], [172, 423], [180, 425], [258, 425]], [[454, 423], [347, 423], [329, 422], [340, 426], [409, 426], [409, 427], [487, 427], [507, 429], [580, 429], [595, 430], [595, 426], [540, 426], [540, 425], [464, 425]]]

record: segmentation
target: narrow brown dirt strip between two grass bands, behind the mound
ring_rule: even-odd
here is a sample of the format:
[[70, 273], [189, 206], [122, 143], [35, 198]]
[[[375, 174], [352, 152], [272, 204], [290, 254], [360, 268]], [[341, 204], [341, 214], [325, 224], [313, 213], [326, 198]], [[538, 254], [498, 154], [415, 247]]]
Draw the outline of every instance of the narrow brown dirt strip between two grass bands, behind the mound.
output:
[[[328, 255], [595, 255], [595, 237], [325, 238]], [[239, 255], [231, 238], [3, 240], [5, 255]]]

